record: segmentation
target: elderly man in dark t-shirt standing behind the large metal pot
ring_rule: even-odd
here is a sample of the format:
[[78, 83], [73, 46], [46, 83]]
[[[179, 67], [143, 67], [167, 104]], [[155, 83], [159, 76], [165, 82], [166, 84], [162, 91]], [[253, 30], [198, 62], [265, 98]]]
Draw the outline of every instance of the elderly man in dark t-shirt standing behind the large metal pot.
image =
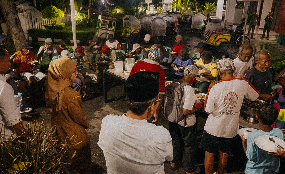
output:
[[269, 67], [271, 63], [269, 51], [266, 49], [258, 51], [255, 54], [255, 63], [257, 64], [247, 72], [245, 79], [260, 92], [260, 99], [270, 101], [275, 97], [275, 91], [271, 89], [275, 74]]

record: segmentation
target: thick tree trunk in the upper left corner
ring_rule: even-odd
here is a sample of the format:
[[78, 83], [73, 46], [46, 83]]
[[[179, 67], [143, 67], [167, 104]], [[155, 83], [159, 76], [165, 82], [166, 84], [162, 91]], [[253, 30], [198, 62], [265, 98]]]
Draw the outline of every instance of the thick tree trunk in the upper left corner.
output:
[[25, 38], [19, 16], [17, 15], [16, 5], [14, 5], [11, 0], [0, 0], [0, 6], [12, 35], [16, 50], [20, 51], [22, 44], [27, 42], [27, 40]]

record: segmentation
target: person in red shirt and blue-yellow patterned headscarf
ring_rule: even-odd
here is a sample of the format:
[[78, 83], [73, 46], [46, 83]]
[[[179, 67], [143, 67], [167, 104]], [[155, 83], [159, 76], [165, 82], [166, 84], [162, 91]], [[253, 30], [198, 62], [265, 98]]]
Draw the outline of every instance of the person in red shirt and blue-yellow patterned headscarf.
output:
[[[162, 58], [163, 59], [163, 58]], [[161, 60], [162, 61], [162, 60]], [[144, 59], [142, 61], [139, 61], [133, 69], [131, 70], [130, 76], [136, 72], [139, 71], [152, 71], [152, 72], [159, 72], [159, 98], [163, 97], [164, 91], [165, 91], [165, 73], [162, 67], [159, 65], [160, 62], [160, 52], [158, 51], [158, 47], [152, 46], [149, 53], [148, 58]], [[147, 90], [147, 89], [146, 89]], [[162, 103], [162, 100], [158, 101], [158, 107], [156, 109], [156, 112], [154, 113], [153, 117], [154, 120], [152, 123], [156, 122], [158, 120], [158, 112], [160, 105]]]

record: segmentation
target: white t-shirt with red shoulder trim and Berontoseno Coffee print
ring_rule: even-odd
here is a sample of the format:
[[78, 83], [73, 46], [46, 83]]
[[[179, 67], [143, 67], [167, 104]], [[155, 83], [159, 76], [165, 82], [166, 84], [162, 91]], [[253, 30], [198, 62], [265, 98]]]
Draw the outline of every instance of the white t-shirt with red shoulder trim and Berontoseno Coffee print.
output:
[[235, 137], [243, 98], [255, 100], [258, 96], [258, 91], [244, 78], [233, 77], [212, 83], [205, 100], [205, 111], [210, 115], [204, 130], [217, 137]]

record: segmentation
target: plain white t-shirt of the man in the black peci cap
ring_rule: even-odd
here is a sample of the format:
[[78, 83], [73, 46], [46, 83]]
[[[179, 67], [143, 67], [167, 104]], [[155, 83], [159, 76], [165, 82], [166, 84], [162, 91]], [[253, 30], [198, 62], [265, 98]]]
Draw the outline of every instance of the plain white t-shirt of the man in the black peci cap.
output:
[[108, 174], [164, 174], [164, 161], [172, 161], [167, 129], [121, 116], [102, 120], [98, 146], [103, 150]]

